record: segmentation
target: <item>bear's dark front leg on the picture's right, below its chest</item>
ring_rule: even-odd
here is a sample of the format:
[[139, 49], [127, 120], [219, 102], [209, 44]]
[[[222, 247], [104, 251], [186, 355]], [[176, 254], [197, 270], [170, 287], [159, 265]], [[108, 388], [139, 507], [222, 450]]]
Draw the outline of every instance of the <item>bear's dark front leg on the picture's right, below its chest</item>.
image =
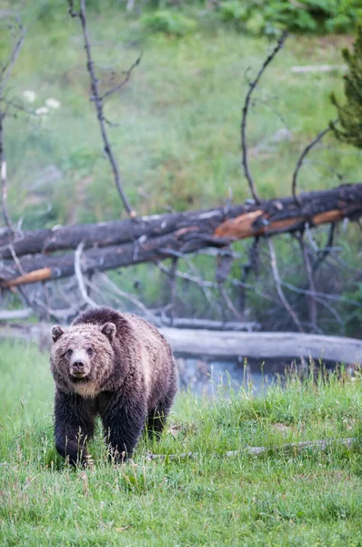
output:
[[130, 458], [145, 427], [146, 401], [126, 401], [116, 395], [108, 396], [100, 407], [109, 456], [117, 463]]

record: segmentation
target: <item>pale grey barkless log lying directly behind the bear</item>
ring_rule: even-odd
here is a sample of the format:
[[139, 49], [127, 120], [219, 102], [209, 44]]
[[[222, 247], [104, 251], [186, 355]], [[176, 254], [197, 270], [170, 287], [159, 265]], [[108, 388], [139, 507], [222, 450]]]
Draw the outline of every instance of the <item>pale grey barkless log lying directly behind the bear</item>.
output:
[[[323, 358], [345, 364], [362, 364], [362, 340], [341, 336], [299, 333], [240, 333], [161, 327], [176, 356], [205, 359], [298, 359]], [[0, 338], [34, 341], [50, 347], [51, 325], [1, 325]]]

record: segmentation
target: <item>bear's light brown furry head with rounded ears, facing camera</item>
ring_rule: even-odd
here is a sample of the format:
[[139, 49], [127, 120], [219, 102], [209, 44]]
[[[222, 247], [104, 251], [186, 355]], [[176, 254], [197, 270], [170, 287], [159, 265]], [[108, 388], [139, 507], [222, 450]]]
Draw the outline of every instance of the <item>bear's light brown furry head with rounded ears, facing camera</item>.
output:
[[55, 385], [84, 397], [96, 397], [114, 370], [116, 325], [82, 324], [52, 328], [51, 369]]

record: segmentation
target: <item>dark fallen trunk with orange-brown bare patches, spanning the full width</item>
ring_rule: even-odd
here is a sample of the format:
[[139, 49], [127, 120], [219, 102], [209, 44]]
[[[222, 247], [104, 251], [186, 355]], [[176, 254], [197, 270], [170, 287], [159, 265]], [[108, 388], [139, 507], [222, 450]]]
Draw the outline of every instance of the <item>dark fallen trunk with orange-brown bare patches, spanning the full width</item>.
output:
[[[287, 197], [207, 211], [25, 231], [15, 239], [4, 231], [0, 235], [1, 286], [75, 274], [74, 253], [59, 252], [75, 250], [80, 243], [85, 248], [82, 272], [86, 274], [223, 247], [248, 237], [296, 232], [306, 224], [313, 227], [345, 218], [354, 221], [362, 215], [362, 183], [307, 192], [299, 198], [300, 204]], [[20, 257], [16, 264], [14, 254]]]

